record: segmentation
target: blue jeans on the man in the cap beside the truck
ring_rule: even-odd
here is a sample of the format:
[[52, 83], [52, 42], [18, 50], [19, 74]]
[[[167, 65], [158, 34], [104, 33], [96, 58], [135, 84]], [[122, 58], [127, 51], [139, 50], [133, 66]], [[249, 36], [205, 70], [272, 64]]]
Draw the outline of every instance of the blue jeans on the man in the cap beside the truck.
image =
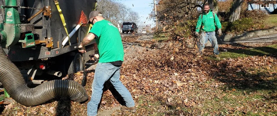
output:
[[[120, 66], [121, 67], [121, 66]], [[114, 66], [111, 63], [98, 63], [95, 68], [94, 79], [92, 82], [92, 94], [90, 102], [87, 103], [87, 115], [96, 116], [97, 107], [100, 103], [104, 83], [110, 79], [111, 84], [115, 87], [118, 93], [123, 97], [127, 107], [135, 106], [129, 90], [119, 80], [120, 67]]]

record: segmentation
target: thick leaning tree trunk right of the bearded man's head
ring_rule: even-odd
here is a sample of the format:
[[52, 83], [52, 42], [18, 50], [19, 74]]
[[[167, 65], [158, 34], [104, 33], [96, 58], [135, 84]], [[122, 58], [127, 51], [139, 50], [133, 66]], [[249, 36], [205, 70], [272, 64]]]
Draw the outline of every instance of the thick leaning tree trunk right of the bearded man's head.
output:
[[234, 0], [234, 4], [230, 10], [230, 22], [234, 22], [239, 19], [239, 15], [241, 14], [241, 6], [242, 6], [243, 0]]

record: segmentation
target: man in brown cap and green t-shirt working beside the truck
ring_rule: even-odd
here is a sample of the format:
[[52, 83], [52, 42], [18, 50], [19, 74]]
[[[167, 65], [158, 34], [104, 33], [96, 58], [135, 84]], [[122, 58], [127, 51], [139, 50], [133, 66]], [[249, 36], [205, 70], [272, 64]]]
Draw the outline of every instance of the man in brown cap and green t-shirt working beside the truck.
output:
[[[95, 39], [99, 50], [99, 62], [95, 68], [92, 95], [90, 102], [87, 104], [87, 115], [97, 115], [97, 107], [101, 100], [104, 83], [108, 80], [111, 81], [111, 84], [113, 84], [126, 103], [126, 106], [122, 106], [120, 109], [136, 112], [131, 93], [119, 80], [124, 51], [118, 28], [111, 22], [104, 20], [99, 11], [90, 13], [89, 23], [93, 24], [93, 27], [81, 42], [79, 48], [83, 48], [83, 50], [79, 50], [79, 52], [86, 52], [85, 45]], [[98, 55], [95, 55], [95, 57], [98, 58]]]

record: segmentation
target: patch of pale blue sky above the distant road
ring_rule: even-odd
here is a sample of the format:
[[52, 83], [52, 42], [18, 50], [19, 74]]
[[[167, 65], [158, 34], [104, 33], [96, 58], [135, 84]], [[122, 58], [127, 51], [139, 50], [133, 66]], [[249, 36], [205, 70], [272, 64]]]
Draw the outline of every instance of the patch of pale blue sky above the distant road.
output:
[[[151, 13], [154, 6], [153, 0], [114, 0], [114, 1], [123, 3], [125, 6], [131, 8], [133, 11], [138, 12], [138, 14], [141, 17], [141, 21], [142, 22], [145, 21], [144, 23], [145, 25], [151, 24], [151, 27], [156, 25], [152, 19], [149, 20], [149, 14]], [[147, 17], [148, 19], [146, 19]]]

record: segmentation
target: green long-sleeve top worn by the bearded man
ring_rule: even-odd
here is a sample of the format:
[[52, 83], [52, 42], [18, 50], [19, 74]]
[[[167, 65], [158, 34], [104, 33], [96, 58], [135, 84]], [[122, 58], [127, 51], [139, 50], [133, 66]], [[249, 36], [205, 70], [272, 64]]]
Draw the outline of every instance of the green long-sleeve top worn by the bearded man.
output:
[[221, 29], [221, 23], [215, 14], [213, 17], [213, 12], [210, 10], [207, 14], [203, 13], [203, 17], [201, 15], [198, 17], [196, 32], [199, 32], [200, 28], [203, 32], [213, 32], [215, 31], [215, 25], [218, 29]]

